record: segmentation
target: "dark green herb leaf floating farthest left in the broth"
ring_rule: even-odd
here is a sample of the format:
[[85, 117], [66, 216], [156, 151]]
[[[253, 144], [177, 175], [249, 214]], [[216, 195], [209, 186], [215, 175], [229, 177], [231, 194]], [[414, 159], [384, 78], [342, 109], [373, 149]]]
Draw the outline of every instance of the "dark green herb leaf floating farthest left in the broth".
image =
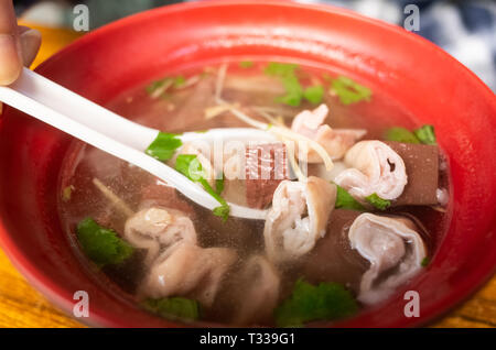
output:
[[99, 267], [119, 264], [134, 251], [114, 230], [99, 226], [91, 218], [86, 218], [77, 225], [77, 239], [85, 254]]

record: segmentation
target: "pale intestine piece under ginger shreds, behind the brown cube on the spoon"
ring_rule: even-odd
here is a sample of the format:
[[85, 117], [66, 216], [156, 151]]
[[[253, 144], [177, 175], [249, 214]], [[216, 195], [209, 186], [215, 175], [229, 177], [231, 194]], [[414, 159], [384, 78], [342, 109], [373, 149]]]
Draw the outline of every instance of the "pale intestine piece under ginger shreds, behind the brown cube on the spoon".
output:
[[[367, 131], [364, 129], [332, 129], [330, 125], [323, 124], [327, 113], [326, 105], [321, 105], [313, 111], [304, 110], [294, 117], [291, 130], [317, 142], [331, 158], [339, 160]], [[301, 154], [301, 150], [296, 153], [301, 160], [306, 157], [309, 163], [322, 162], [322, 157], [313, 150], [309, 150], [306, 156]]]

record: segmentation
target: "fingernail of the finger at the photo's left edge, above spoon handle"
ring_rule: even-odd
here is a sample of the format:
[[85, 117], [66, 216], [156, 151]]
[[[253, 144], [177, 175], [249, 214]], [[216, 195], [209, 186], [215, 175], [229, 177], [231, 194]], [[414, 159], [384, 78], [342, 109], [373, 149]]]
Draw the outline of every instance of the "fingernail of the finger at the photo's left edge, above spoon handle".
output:
[[0, 34], [0, 85], [12, 84], [21, 74], [22, 62], [15, 37]]

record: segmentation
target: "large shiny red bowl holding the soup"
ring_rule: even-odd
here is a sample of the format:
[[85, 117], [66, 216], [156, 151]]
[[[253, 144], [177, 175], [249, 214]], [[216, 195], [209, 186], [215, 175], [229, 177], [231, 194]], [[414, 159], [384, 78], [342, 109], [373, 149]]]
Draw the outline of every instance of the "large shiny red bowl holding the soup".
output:
[[[37, 72], [105, 105], [164, 72], [222, 57], [281, 56], [353, 72], [434, 124], [451, 164], [449, 227], [427, 271], [403, 288], [420, 294], [407, 318], [402, 293], [336, 326], [418, 326], [475, 291], [496, 265], [496, 99], [468, 69], [400, 28], [327, 6], [208, 1], [140, 13], [97, 30]], [[0, 118], [0, 243], [14, 265], [72, 313], [89, 293], [97, 326], [180, 326], [138, 309], [82, 267], [56, 209], [61, 163], [72, 139], [7, 108]]]

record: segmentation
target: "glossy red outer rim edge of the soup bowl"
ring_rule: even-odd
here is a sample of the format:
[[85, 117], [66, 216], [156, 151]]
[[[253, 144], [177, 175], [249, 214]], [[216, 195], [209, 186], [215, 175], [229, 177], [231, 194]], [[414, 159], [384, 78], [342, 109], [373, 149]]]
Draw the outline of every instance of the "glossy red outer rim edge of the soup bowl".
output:
[[[85, 45], [87, 41], [96, 40], [99, 36], [107, 35], [108, 32], [114, 31], [116, 29], [130, 25], [132, 23], [139, 23], [142, 21], [147, 21], [149, 18], [154, 17], [157, 13], [173, 13], [181, 12], [183, 10], [188, 9], [200, 9], [207, 8], [212, 6], [236, 6], [236, 4], [258, 4], [258, 6], [280, 6], [288, 8], [302, 8], [302, 9], [313, 9], [322, 12], [328, 12], [334, 14], [339, 14], [343, 17], [347, 17], [351, 19], [359, 20], [362, 22], [368, 23], [374, 26], [380, 26], [392, 35], [400, 35], [402, 37], [408, 37], [409, 40], [414, 40], [419, 44], [425, 46], [429, 51], [436, 52], [438, 54], [444, 56], [444, 59], [449, 59], [454, 62], [461, 72], [471, 76], [471, 79], [476, 80], [478, 84], [477, 94], [485, 94], [487, 100], [490, 101], [492, 109], [496, 111], [496, 99], [495, 95], [490, 90], [490, 88], [483, 83], [483, 80], [477, 77], [472, 70], [470, 70], [466, 66], [451, 56], [441, 47], [436, 46], [432, 42], [412, 33], [408, 32], [405, 29], [382, 22], [380, 20], [371, 19], [358, 14], [354, 11], [338, 8], [330, 4], [316, 3], [316, 4], [308, 4], [308, 3], [298, 3], [287, 0], [266, 0], [263, 3], [257, 1], [249, 0], [208, 0], [208, 1], [198, 1], [198, 2], [186, 2], [186, 3], [176, 3], [164, 6], [162, 8], [152, 9], [148, 11], [140, 12], [138, 14], [133, 14], [110, 24], [107, 24], [100, 29], [97, 29], [88, 34], [85, 34], [80, 39], [76, 40], [74, 43], [64, 47], [47, 61], [42, 63], [35, 70], [39, 73], [43, 73], [45, 63], [63, 59], [64, 55], [74, 50], [78, 50], [79, 46]], [[0, 247], [3, 249], [6, 255], [10, 259], [12, 264], [15, 266], [18, 271], [29, 281], [31, 285], [33, 285], [37, 291], [40, 291], [50, 302], [55, 304], [55, 306], [60, 307], [63, 311], [65, 311], [68, 316], [72, 317], [72, 309], [74, 305], [74, 300], [72, 296], [67, 295], [66, 292], [55, 283], [51, 281], [50, 277], [43, 275], [41, 271], [36, 267], [36, 265], [29, 261], [22, 253], [22, 251], [15, 245], [15, 243], [10, 239], [10, 236], [7, 229], [3, 226], [2, 219], [0, 218]], [[435, 305], [435, 310], [430, 313], [429, 316], [422, 316], [418, 319], [409, 319], [405, 321], [402, 326], [419, 326], [422, 324], [427, 324], [441, 317], [442, 315], [450, 311], [450, 309], [454, 308], [456, 305], [461, 304], [463, 300], [467, 299], [472, 294], [474, 294], [484, 283], [492, 278], [493, 274], [496, 273], [496, 254], [493, 260], [489, 260], [485, 265], [479, 265], [476, 274], [472, 274], [471, 278], [464, 280], [465, 283], [463, 285], [459, 285], [456, 289], [453, 289], [452, 293], [446, 294], [446, 296], [438, 302]], [[96, 327], [119, 327], [122, 326], [122, 320], [114, 318], [111, 315], [104, 315], [99, 310], [91, 311], [91, 318], [77, 318], [77, 321], [86, 324], [87, 326], [96, 326]], [[343, 326], [346, 327], [346, 321], [343, 322]], [[177, 324], [170, 322], [171, 327], [179, 326]]]

